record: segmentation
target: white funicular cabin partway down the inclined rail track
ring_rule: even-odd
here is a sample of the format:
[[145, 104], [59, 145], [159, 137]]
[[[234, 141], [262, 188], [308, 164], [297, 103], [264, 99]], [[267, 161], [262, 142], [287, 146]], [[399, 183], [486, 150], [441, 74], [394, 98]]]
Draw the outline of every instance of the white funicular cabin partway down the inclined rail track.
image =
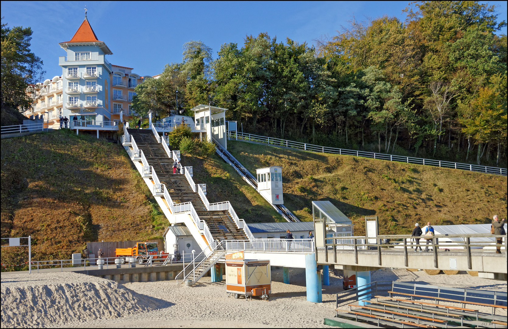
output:
[[283, 204], [282, 167], [271, 166], [256, 169], [258, 174], [258, 191], [272, 204]]

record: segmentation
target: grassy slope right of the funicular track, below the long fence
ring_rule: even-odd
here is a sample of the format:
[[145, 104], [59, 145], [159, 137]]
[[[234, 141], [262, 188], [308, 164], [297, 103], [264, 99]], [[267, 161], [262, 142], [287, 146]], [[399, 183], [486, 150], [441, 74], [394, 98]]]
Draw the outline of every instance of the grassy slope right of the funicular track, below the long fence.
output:
[[234, 140], [228, 151], [252, 173], [282, 166], [284, 205], [301, 220], [312, 220], [312, 200], [329, 200], [358, 224], [357, 234], [364, 233], [364, 216], [379, 216], [382, 234], [408, 233], [416, 222], [478, 224], [506, 216], [504, 176]]

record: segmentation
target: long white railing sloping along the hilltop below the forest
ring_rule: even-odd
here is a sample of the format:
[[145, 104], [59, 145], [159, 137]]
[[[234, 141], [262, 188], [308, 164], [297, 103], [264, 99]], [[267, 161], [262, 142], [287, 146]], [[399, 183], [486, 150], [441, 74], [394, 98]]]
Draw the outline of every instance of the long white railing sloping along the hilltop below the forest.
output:
[[234, 132], [234, 131], [228, 131], [228, 135], [231, 138], [244, 139], [244, 140], [268, 143], [268, 144], [279, 145], [279, 146], [299, 148], [299, 149], [303, 149], [305, 151], [332, 153], [332, 154], [340, 154], [340, 155], [350, 155], [350, 156], [372, 158], [372, 159], [379, 159], [379, 160], [415, 163], [415, 164], [421, 164], [421, 165], [426, 165], [426, 166], [436, 166], [436, 167], [443, 167], [443, 168], [453, 168], [453, 169], [480, 171], [480, 172], [486, 172], [486, 173], [496, 173], [496, 174], [506, 175], [506, 168], [488, 167], [488, 166], [480, 166], [480, 165], [473, 165], [473, 164], [467, 164], [467, 163], [431, 160], [431, 159], [423, 159], [423, 158], [402, 157], [402, 156], [396, 156], [396, 155], [384, 154], [384, 153], [375, 153], [375, 152], [358, 151], [358, 150], [354, 150], [354, 149], [320, 146], [320, 145], [314, 145], [314, 144], [295, 142], [295, 141], [291, 141], [291, 140], [287, 140], [287, 139], [246, 134], [246, 133]]

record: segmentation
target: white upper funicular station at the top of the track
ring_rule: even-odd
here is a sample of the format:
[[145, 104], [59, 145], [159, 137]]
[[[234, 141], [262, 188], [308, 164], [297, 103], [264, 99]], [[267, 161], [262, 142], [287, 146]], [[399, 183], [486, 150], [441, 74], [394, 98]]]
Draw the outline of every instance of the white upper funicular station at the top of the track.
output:
[[[199, 104], [192, 108], [196, 127], [203, 127], [199, 130], [206, 130], [206, 137], [209, 141], [212, 138], [217, 143], [228, 149], [226, 136], [226, 108]], [[202, 133], [200, 133], [202, 137]]]

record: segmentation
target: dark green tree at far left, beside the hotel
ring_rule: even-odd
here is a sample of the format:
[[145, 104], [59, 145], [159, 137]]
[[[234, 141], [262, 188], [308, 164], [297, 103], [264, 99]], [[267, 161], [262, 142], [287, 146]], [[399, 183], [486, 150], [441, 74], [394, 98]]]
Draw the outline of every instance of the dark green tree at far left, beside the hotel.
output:
[[20, 111], [31, 103], [26, 90], [29, 84], [42, 79], [41, 58], [30, 52], [30, 27], [12, 29], [2, 17], [2, 107], [12, 106]]

